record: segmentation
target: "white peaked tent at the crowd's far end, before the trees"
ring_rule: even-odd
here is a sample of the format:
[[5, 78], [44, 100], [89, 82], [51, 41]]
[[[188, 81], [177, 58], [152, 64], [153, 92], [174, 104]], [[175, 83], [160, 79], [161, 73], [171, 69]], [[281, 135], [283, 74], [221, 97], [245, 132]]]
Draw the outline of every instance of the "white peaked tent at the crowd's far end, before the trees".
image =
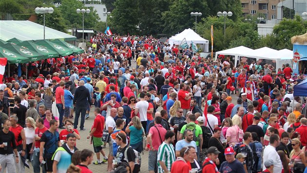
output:
[[203, 52], [209, 52], [209, 41], [200, 37], [190, 28], [185, 29], [181, 33], [171, 37], [169, 43], [171, 45], [173, 44], [179, 45], [184, 38], [187, 40], [188, 45], [191, 46], [192, 42], [196, 44], [203, 44], [203, 46], [201, 47], [203, 49]]

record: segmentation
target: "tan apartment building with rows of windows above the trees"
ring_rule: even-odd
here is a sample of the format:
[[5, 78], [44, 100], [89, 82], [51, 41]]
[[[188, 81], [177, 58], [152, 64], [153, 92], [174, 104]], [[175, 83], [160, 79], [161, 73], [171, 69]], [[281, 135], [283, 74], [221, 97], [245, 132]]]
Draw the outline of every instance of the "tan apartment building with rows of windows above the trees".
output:
[[252, 15], [265, 20], [277, 18], [277, 4], [283, 0], [241, 0], [244, 16]]

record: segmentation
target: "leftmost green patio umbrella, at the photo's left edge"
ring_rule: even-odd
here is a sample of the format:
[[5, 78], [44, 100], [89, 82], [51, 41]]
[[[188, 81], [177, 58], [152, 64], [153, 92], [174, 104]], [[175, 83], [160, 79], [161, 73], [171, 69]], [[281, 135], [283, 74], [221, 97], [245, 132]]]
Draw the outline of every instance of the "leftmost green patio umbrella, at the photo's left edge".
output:
[[29, 62], [28, 58], [3, 47], [0, 47], [0, 58], [7, 58], [9, 64]]

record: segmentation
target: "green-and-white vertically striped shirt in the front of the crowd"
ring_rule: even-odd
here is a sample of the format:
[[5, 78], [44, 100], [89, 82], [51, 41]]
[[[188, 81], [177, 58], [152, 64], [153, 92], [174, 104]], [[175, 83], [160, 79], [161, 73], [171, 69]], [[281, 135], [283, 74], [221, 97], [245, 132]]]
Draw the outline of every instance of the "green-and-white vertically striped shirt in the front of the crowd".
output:
[[163, 142], [158, 150], [157, 162], [158, 162], [158, 173], [163, 173], [164, 170], [162, 169], [159, 161], [165, 163], [166, 168], [171, 171], [171, 166], [174, 161], [176, 161], [175, 157], [175, 150], [173, 144], [167, 144]]

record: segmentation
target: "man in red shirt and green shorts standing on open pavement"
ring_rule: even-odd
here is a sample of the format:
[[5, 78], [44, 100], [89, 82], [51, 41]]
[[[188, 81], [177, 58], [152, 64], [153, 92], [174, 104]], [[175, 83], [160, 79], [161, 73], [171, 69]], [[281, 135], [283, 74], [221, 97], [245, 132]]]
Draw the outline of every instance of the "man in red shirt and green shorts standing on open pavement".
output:
[[100, 114], [100, 108], [95, 108], [94, 111], [95, 119], [92, 126], [92, 130], [90, 134], [87, 136], [87, 139], [89, 139], [92, 136], [94, 151], [97, 156], [97, 161], [95, 164], [101, 164], [100, 162], [100, 152], [103, 155], [103, 163], [107, 162], [106, 154], [104, 153], [102, 149], [103, 142], [101, 141], [103, 129], [104, 129], [104, 117]]

